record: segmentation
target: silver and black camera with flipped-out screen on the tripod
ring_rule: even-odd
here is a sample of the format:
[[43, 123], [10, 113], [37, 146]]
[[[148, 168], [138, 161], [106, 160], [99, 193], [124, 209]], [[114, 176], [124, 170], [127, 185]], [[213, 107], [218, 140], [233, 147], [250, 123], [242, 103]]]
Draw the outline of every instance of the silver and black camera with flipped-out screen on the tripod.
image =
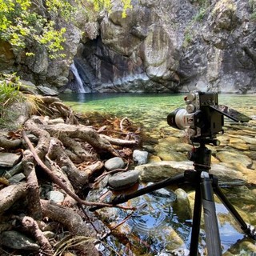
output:
[[225, 105], [218, 105], [215, 92], [192, 91], [184, 98], [186, 109], [178, 108], [167, 116], [169, 126], [184, 130], [191, 141], [214, 139], [223, 133], [224, 115], [235, 122], [249, 122], [251, 118]]

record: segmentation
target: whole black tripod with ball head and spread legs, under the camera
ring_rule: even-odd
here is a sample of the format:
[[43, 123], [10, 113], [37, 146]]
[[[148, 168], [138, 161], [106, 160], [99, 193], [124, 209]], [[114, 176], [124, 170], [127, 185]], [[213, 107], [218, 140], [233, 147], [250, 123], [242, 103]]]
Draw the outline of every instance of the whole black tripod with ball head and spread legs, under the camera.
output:
[[[185, 182], [190, 183], [195, 189], [190, 256], [198, 254], [198, 238], [202, 208], [205, 221], [207, 253], [210, 256], [219, 256], [222, 255], [222, 246], [218, 230], [214, 193], [218, 196], [218, 198], [220, 198], [227, 210], [230, 211], [245, 234], [256, 239], [256, 230], [254, 229], [254, 226], [250, 226], [244, 222], [240, 214], [238, 214], [238, 211], [235, 210], [234, 206], [232, 206], [226, 196], [222, 193], [222, 190], [218, 186], [218, 178], [215, 178], [214, 175], [209, 174], [211, 150], [206, 147], [206, 144], [213, 143], [217, 145], [217, 140], [203, 139], [199, 142], [200, 146], [191, 150], [189, 155], [189, 159], [194, 162], [194, 170], [186, 170], [184, 174], [177, 175], [174, 178], [166, 178], [162, 182], [157, 182], [154, 183], [154, 185], [146, 186], [145, 188], [135, 191], [132, 194], [118, 195], [110, 203], [117, 205], [122, 202], [127, 202], [132, 198], [141, 196], [142, 194], [147, 194], [154, 190], [158, 190], [162, 187]], [[96, 206], [90, 210], [97, 210], [99, 208], [101, 207]]]

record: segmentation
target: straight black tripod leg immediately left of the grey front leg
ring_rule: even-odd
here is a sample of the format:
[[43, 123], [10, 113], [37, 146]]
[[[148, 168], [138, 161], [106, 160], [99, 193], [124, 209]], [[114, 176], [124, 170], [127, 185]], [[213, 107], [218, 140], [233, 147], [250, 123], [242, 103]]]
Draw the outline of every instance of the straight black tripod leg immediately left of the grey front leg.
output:
[[200, 186], [195, 188], [195, 198], [194, 198], [194, 212], [193, 212], [193, 222], [192, 222], [192, 233], [190, 240], [190, 256], [196, 256], [198, 254], [198, 240], [200, 232], [200, 222], [202, 214], [202, 198]]

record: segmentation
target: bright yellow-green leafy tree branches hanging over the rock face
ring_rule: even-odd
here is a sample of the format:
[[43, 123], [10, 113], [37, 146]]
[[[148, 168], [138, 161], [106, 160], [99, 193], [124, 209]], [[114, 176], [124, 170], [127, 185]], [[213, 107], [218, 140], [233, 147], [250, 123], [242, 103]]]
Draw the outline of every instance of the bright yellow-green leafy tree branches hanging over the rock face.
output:
[[[74, 0], [75, 6], [85, 6], [82, 0]], [[87, 0], [90, 1], [90, 0]], [[131, 8], [130, 0], [121, 0], [123, 17]], [[110, 0], [92, 0], [94, 11], [110, 10]], [[58, 20], [70, 20], [76, 7], [70, 0], [0, 0], [0, 38], [10, 42], [13, 50], [26, 49], [34, 43], [46, 46], [50, 58], [63, 57], [62, 42], [65, 27]]]

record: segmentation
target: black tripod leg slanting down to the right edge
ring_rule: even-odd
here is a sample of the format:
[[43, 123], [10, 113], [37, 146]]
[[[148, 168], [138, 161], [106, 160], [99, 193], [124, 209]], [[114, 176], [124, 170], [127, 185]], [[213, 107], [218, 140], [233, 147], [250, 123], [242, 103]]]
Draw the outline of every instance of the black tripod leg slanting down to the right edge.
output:
[[246, 222], [242, 219], [238, 211], [235, 210], [234, 206], [230, 203], [230, 201], [226, 198], [225, 194], [223, 194], [222, 190], [219, 186], [214, 187], [214, 192], [217, 194], [218, 198], [222, 201], [226, 209], [230, 211], [230, 214], [233, 215], [234, 219], [239, 223], [242, 231], [250, 236], [250, 238], [254, 238], [256, 240], [256, 230], [254, 226], [250, 226], [246, 224]]

